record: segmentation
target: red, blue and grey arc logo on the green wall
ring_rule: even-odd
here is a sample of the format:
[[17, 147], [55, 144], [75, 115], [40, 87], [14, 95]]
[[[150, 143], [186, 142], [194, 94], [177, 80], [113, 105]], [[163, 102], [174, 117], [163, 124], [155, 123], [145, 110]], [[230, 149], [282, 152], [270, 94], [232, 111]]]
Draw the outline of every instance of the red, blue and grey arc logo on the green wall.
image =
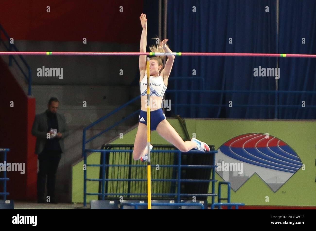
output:
[[238, 190], [254, 173], [278, 190], [302, 166], [300, 157], [284, 141], [261, 133], [236, 136], [216, 154], [217, 173]]

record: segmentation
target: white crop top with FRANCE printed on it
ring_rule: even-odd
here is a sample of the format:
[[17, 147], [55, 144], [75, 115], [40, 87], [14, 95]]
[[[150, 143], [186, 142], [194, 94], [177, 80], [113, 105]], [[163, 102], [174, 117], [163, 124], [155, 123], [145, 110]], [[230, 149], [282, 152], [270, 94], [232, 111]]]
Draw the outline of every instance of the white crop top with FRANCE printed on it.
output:
[[[141, 96], [147, 96], [147, 73], [139, 83], [139, 88]], [[163, 98], [163, 95], [167, 90], [167, 85], [163, 82], [163, 77], [161, 75], [149, 77], [149, 90], [150, 96], [159, 96]]]

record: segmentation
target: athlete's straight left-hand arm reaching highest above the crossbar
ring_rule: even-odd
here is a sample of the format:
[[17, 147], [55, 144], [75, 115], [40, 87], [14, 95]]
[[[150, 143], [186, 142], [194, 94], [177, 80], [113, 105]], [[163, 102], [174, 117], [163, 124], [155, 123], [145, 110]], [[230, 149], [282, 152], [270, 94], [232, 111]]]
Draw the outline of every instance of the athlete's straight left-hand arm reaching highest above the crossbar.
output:
[[[146, 52], [147, 46], [147, 18], [145, 14], [142, 14], [140, 17], [140, 22], [143, 27], [142, 36], [140, 38], [140, 49], [139, 52]], [[140, 72], [140, 80], [145, 76], [146, 72], [146, 55], [139, 56], [139, 72]]]

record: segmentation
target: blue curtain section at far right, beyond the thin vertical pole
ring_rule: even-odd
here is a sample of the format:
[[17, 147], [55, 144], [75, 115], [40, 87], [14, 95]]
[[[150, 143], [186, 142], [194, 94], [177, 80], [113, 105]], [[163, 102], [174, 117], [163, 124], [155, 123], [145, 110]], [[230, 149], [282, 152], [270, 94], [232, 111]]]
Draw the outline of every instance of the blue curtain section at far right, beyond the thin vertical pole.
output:
[[[279, 25], [280, 53], [316, 54], [316, 1], [280, 0]], [[316, 59], [280, 58], [280, 72], [279, 90], [316, 91]], [[279, 104], [297, 105], [281, 107], [279, 118], [315, 119], [315, 94], [280, 94]]]

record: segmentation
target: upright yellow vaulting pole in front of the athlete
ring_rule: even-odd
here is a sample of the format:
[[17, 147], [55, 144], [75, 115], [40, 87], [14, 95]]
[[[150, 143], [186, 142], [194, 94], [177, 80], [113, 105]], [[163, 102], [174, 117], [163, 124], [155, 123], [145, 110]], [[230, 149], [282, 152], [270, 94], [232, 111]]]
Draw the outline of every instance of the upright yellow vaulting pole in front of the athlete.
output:
[[147, 58], [147, 197], [148, 209], [151, 209], [151, 168], [150, 168], [150, 89], [149, 89], [149, 58]]

